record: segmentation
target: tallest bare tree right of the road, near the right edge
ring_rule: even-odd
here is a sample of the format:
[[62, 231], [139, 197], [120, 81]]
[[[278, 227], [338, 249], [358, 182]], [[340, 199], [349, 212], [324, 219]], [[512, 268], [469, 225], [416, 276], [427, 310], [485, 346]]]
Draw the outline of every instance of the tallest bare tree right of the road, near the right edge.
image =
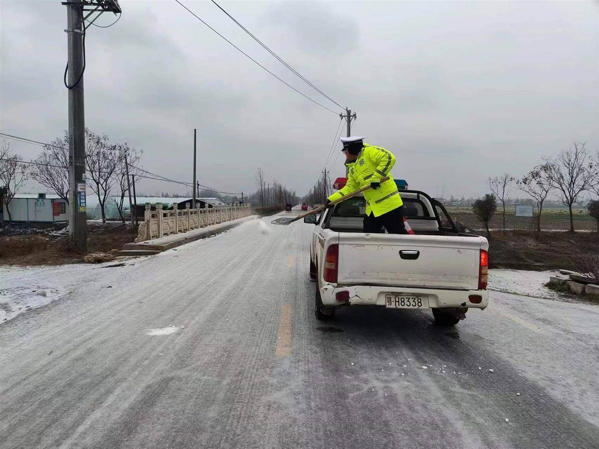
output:
[[568, 207], [570, 232], [574, 232], [572, 206], [579, 201], [582, 192], [597, 183], [597, 168], [586, 150], [586, 142], [574, 142], [573, 147], [562, 150], [555, 159], [546, 162], [549, 179], [555, 185], [561, 202]]

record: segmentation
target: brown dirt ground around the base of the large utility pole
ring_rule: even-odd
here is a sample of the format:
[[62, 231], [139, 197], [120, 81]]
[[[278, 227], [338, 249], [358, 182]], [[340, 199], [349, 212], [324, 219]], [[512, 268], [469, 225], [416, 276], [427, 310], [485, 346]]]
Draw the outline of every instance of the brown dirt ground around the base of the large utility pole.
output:
[[[50, 230], [34, 235], [0, 235], [0, 265], [61, 265], [80, 263], [86, 255], [78, 251], [68, 238]], [[6, 233], [4, 235], [7, 235]], [[88, 223], [88, 253], [108, 253], [120, 250], [125, 243], [134, 241], [131, 226], [118, 223]]]

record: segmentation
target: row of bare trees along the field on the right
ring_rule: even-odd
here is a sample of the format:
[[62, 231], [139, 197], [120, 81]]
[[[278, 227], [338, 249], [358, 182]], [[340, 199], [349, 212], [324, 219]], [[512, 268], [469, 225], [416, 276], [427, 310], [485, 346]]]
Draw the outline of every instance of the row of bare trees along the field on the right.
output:
[[[572, 147], [560, 151], [555, 157], [544, 158], [524, 177], [516, 179], [509, 173], [489, 177], [487, 186], [503, 207], [503, 227], [506, 229], [506, 202], [513, 188], [522, 190], [537, 205], [537, 230], [541, 230], [543, 203], [549, 195], [555, 195], [568, 208], [570, 232], [574, 232], [574, 204], [585, 193], [599, 196], [599, 150], [595, 154], [586, 148], [586, 142], [574, 142]], [[479, 203], [480, 205], [480, 203]], [[476, 208], [473, 205], [473, 210]], [[493, 212], [495, 213], [495, 212]]]

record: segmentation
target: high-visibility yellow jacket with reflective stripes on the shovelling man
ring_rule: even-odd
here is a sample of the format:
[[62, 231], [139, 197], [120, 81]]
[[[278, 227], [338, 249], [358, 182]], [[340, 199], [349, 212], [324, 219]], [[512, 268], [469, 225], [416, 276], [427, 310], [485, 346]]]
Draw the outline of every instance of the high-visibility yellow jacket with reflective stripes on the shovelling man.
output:
[[[358, 159], [355, 162], [347, 163], [349, 168], [347, 184], [328, 199], [335, 201], [347, 193], [369, 186], [370, 183], [378, 183], [384, 177], [391, 177], [390, 173], [394, 165], [395, 156], [391, 152], [364, 142]], [[393, 178], [380, 184], [379, 189], [365, 190], [364, 198], [366, 199], [366, 214], [373, 213], [375, 217], [386, 214], [404, 204]]]

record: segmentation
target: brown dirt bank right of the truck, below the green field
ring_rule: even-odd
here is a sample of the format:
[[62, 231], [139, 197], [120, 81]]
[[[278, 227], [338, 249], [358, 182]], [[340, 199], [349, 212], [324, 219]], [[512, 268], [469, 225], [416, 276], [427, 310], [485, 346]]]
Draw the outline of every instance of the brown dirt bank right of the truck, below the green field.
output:
[[597, 232], [491, 232], [491, 268], [544, 271], [575, 269], [580, 254], [599, 253]]

